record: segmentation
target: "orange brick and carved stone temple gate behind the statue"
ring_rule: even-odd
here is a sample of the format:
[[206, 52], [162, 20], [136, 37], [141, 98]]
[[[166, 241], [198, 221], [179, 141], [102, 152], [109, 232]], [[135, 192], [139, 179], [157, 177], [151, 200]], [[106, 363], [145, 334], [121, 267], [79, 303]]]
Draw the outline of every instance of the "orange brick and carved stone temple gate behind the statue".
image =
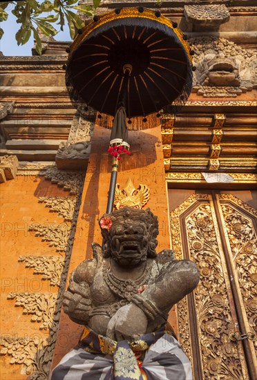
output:
[[[101, 14], [125, 1], [103, 1]], [[256, 378], [256, 3], [126, 1], [160, 9], [195, 52], [193, 92], [178, 115], [129, 131], [117, 182], [149, 188], [158, 251], [200, 269], [169, 321], [195, 380]], [[70, 273], [101, 241], [110, 120], [73, 108], [69, 43], [1, 56], [1, 379], [45, 380], [82, 326], [61, 310]], [[145, 127], [145, 126], [144, 126]]]

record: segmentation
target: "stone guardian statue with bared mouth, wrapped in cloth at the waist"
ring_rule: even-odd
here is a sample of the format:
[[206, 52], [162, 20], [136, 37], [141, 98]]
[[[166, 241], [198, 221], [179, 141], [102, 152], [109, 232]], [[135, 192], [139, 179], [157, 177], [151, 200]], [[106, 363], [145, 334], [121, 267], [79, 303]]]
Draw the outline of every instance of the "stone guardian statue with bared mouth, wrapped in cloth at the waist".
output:
[[150, 209], [123, 209], [99, 221], [93, 244], [70, 277], [64, 312], [86, 325], [51, 380], [190, 380], [191, 365], [170, 328], [171, 307], [199, 281], [190, 260], [156, 254], [158, 220]]

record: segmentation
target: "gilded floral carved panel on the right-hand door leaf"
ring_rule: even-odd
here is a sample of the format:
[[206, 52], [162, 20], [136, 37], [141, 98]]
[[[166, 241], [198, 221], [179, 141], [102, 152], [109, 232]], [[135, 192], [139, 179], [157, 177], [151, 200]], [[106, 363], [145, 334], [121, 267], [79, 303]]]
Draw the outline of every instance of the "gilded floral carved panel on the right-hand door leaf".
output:
[[[222, 196], [220, 196], [220, 199], [222, 199]], [[238, 202], [238, 198], [231, 196], [229, 200], [240, 207], [246, 206], [243, 208], [247, 209], [248, 212], [251, 212], [253, 216], [257, 217], [257, 211], [240, 200]], [[252, 220], [247, 218], [245, 214], [240, 213], [238, 209], [231, 205], [222, 204], [221, 207], [225, 219], [225, 227], [227, 229], [231, 253], [234, 259], [234, 265], [238, 274], [238, 283], [244, 300], [247, 319], [251, 331], [254, 331], [256, 330], [257, 322], [256, 233], [254, 231]]]

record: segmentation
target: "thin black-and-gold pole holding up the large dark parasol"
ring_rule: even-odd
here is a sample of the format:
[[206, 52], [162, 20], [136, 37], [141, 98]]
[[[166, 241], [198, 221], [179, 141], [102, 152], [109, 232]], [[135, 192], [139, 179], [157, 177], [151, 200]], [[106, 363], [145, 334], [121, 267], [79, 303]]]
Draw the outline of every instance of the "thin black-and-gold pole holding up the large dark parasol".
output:
[[[126, 104], [126, 84], [128, 83], [128, 77], [131, 75], [133, 67], [131, 64], [125, 64], [123, 66], [123, 72], [124, 72], [124, 84], [122, 86], [122, 91], [120, 93], [120, 96], [118, 99], [121, 99], [122, 104], [125, 107]], [[120, 102], [117, 102], [117, 108], [119, 107]], [[115, 112], [115, 116], [118, 112], [118, 109]], [[126, 123], [126, 120], [125, 120]], [[117, 182], [117, 169], [118, 169], [118, 160], [117, 157], [113, 157], [113, 164], [112, 164], [112, 170], [111, 170], [111, 180], [110, 180], [110, 187], [108, 192], [108, 202], [107, 202], [107, 209], [106, 213], [111, 213], [113, 211], [113, 203], [114, 203], [114, 197], [115, 197], [115, 188], [116, 188], [116, 182]]]

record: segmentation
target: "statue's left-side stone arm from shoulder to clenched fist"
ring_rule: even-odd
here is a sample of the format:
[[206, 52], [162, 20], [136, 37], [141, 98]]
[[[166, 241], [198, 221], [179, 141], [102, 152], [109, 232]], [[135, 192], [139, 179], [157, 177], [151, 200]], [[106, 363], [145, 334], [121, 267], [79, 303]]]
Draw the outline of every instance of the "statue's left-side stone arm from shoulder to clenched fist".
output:
[[85, 325], [91, 317], [93, 303], [90, 287], [96, 268], [97, 256], [84, 260], [71, 274], [68, 289], [64, 293], [64, 312], [73, 322], [81, 325]]

